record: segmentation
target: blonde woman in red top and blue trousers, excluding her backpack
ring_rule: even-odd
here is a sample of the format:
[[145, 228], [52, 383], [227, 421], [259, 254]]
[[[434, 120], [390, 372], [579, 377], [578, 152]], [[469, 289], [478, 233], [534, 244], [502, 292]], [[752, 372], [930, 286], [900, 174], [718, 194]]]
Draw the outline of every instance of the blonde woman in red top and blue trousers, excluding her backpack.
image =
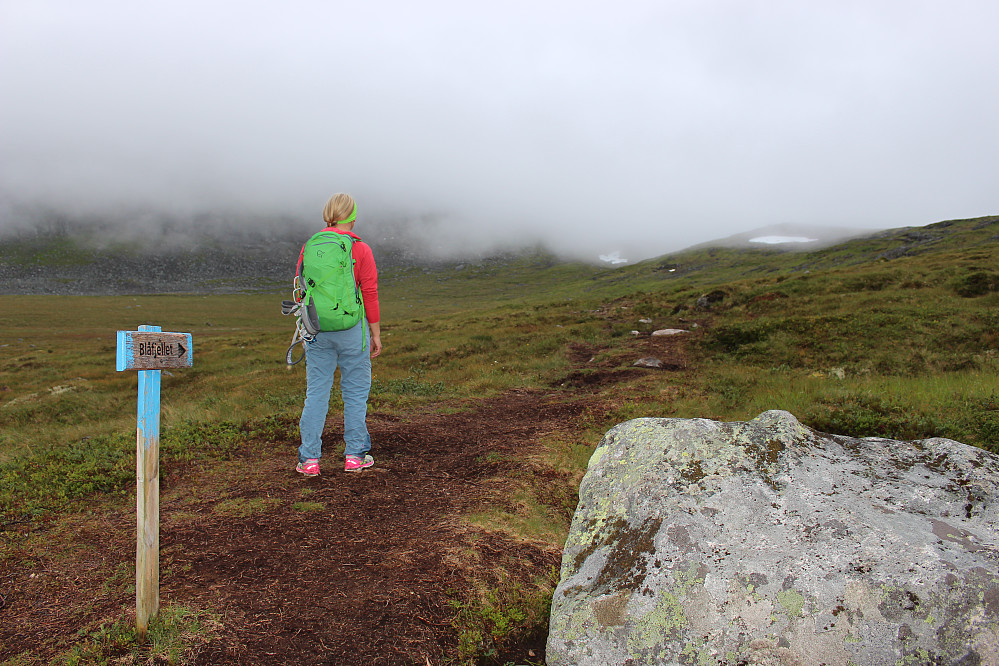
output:
[[[307, 387], [302, 419], [299, 421], [302, 445], [298, 448], [296, 470], [306, 476], [319, 475], [323, 426], [326, 425], [330, 391], [337, 366], [340, 367], [340, 392], [343, 395], [343, 439], [346, 447], [344, 471], [359, 472], [375, 464], [374, 459], [368, 455], [371, 437], [368, 435], [367, 413], [368, 392], [371, 389], [371, 359], [382, 351], [378, 315], [378, 269], [375, 267], [371, 248], [354, 234], [356, 218], [357, 204], [349, 194], [333, 195], [323, 209], [323, 220], [326, 222], [323, 231], [345, 234], [353, 241], [351, 253], [354, 258], [354, 280], [363, 296], [364, 313], [361, 321], [352, 328], [345, 331], [321, 331], [314, 339], [305, 343]], [[298, 257], [299, 275], [304, 254], [303, 245]]]

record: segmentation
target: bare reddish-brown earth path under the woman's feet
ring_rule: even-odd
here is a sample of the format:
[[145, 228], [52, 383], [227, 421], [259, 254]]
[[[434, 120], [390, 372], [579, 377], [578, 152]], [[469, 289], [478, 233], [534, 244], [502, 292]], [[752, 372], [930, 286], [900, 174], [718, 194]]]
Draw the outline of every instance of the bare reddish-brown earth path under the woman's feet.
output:
[[[470, 580], [526, 582], [560, 560], [551, 545], [461, 516], [508, 502], [503, 467], [535, 475], [542, 497], [550, 487], [553, 511], [571, 510], [566, 479], [530, 456], [539, 436], [572, 430], [582, 410], [514, 391], [456, 414], [374, 414], [376, 466], [358, 474], [328, 456], [322, 476], [304, 478], [291, 441], [163, 470], [161, 604], [221, 614], [217, 635], [185, 663], [447, 663], [457, 651], [451, 602]], [[325, 441], [339, 439], [336, 422], [331, 413]], [[134, 508], [124, 504], [39, 528], [46, 547], [0, 559], [0, 660], [31, 649], [48, 663], [81, 628], [134, 612]], [[24, 558], [36, 566], [20, 567]], [[503, 660], [541, 662], [544, 636], [521, 638]]]

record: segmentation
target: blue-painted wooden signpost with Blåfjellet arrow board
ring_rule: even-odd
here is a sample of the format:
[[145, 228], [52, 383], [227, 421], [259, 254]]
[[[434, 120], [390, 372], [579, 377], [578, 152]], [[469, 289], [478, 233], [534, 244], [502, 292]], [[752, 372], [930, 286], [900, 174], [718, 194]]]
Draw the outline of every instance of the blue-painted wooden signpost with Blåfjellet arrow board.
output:
[[115, 369], [139, 371], [135, 429], [135, 627], [145, 638], [160, 607], [160, 370], [194, 365], [190, 333], [118, 331]]

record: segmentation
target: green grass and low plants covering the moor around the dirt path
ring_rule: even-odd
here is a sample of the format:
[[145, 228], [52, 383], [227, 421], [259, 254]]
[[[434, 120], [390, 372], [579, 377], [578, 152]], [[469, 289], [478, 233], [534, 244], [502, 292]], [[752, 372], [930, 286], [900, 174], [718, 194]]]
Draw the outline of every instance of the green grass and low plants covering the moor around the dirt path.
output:
[[[36, 248], [24, 260], [65, 255], [53, 252]], [[941, 436], [999, 453], [997, 265], [999, 218], [981, 218], [811, 253], [702, 248], [615, 269], [529, 253], [461, 270], [386, 271], [385, 353], [371, 407], [452, 410], [513, 388], [558, 386], [574, 345], [621, 370], [633, 358], [632, 330], [691, 330], [691, 370], [629, 376], [595, 394], [603, 409], [581, 417], [573, 434], [542, 440], [531, 464], [553, 470], [564, 492], [542, 496], [530, 475], [509, 473], [510, 501], [468, 516], [558, 547], [590, 450], [629, 418], [737, 421], [784, 409], [826, 432]], [[0, 526], [71, 511], [81, 497], [123, 496], [134, 483], [136, 376], [114, 371], [119, 329], [150, 323], [193, 335], [194, 367], [163, 373], [164, 465], [294, 438], [305, 382], [303, 366], [284, 364], [292, 322], [279, 314], [281, 298], [0, 296]], [[563, 390], [572, 400], [571, 387]], [[215, 510], [275, 507], [233, 498]], [[457, 600], [468, 658], [543, 629], [553, 586], [518, 588], [498, 571]], [[195, 636], [194, 645], [205, 631], [176, 633]], [[78, 647], [102, 663], [121, 650], [138, 654], [130, 640], [125, 624], [112, 624]]]

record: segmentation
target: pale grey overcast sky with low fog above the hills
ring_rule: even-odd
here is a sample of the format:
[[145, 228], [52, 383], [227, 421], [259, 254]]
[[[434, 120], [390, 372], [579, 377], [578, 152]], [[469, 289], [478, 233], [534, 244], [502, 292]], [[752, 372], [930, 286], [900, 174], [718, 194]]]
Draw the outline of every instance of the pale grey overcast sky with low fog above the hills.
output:
[[994, 0], [0, 0], [0, 231], [35, 204], [320, 220], [348, 191], [362, 236], [637, 259], [995, 214], [997, 25]]

